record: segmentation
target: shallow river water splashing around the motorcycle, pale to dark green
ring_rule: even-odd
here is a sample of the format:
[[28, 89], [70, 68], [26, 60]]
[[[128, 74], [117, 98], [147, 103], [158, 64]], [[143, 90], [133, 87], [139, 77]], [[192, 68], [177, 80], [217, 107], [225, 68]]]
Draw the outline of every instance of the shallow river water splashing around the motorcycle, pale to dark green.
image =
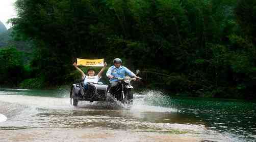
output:
[[[201, 140], [256, 141], [255, 102], [170, 97], [160, 91], [144, 91], [135, 93], [134, 105], [127, 109], [118, 102], [80, 101], [78, 107], [73, 107], [68, 97], [68, 89], [0, 89], [0, 139], [10, 141], [9, 132], [18, 135], [18, 130], [28, 135], [39, 129], [62, 135], [62, 130], [74, 133], [100, 129], [123, 136], [129, 132], [147, 137], [176, 134]], [[106, 140], [102, 134], [100, 137], [98, 141]], [[143, 141], [132, 137], [122, 141]]]

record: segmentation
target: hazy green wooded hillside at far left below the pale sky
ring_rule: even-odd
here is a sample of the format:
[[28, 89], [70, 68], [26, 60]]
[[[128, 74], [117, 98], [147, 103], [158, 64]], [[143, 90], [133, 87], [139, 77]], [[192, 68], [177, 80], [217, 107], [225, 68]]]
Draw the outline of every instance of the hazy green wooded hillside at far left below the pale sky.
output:
[[16, 87], [30, 77], [29, 64], [35, 50], [30, 41], [15, 40], [12, 31], [0, 33], [0, 85], [5, 87]]

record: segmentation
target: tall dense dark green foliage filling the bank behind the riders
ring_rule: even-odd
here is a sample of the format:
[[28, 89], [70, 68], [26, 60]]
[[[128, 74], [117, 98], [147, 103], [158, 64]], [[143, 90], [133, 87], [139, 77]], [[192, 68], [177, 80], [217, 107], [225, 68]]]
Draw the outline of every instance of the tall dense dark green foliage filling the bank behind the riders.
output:
[[120, 57], [147, 87], [255, 97], [253, 0], [17, 0], [15, 36], [38, 48], [33, 76], [72, 81], [76, 57]]

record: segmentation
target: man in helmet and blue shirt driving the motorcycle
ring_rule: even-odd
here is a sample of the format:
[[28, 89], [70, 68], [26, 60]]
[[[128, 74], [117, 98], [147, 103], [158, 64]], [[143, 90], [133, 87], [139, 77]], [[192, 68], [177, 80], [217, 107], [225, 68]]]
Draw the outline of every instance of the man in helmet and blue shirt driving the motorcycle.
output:
[[122, 66], [122, 60], [120, 58], [115, 58], [113, 60], [114, 65], [109, 67], [107, 71], [107, 77], [110, 79], [109, 92], [112, 93], [112, 88], [114, 88], [118, 84], [118, 78], [124, 78], [125, 74], [129, 75], [131, 78], [139, 78], [137, 77], [130, 69]]

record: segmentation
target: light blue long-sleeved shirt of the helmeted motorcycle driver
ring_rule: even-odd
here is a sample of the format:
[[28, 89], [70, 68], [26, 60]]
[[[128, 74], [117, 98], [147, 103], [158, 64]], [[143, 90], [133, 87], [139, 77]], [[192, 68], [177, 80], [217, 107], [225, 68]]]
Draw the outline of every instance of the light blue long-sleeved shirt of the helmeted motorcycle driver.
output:
[[[107, 77], [112, 75], [115, 78], [123, 78], [125, 75], [129, 75], [130, 77], [135, 77], [136, 75], [128, 68], [120, 65], [119, 68], [117, 68], [115, 65], [112, 65], [109, 67], [107, 71]], [[117, 79], [110, 79], [110, 82], [118, 81]]]

